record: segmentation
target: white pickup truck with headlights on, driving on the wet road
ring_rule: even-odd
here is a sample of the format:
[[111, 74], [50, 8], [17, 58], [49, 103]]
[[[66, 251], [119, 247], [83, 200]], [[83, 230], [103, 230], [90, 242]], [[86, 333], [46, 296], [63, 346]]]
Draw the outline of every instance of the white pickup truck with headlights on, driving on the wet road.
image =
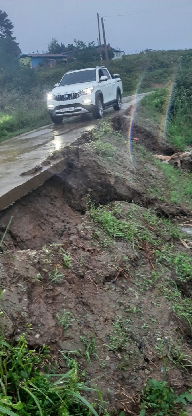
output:
[[47, 94], [47, 110], [55, 124], [62, 123], [63, 116], [86, 113], [101, 119], [105, 108], [121, 109], [121, 97], [120, 75], [112, 75], [107, 68], [97, 66], [67, 72]]

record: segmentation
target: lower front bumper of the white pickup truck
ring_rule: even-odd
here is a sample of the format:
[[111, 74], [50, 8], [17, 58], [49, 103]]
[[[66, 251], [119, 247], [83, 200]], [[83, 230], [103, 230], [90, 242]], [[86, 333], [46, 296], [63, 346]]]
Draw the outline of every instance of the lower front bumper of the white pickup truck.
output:
[[[60, 109], [62, 108], [71, 108], [73, 107], [73, 111], [66, 111], [62, 112]], [[91, 113], [94, 109], [93, 104], [83, 105], [82, 103], [71, 103], [71, 104], [60, 104], [55, 106], [53, 109], [48, 108], [48, 112], [52, 114], [54, 117], [56, 116], [79, 116], [80, 114]]]

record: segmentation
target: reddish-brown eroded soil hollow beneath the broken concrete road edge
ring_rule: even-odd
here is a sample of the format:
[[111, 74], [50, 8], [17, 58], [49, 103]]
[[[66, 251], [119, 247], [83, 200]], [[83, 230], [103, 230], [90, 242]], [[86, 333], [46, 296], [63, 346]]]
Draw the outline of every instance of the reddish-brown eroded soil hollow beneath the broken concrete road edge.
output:
[[5, 238], [7, 247], [40, 249], [45, 244], [68, 241], [72, 225], [81, 215], [65, 203], [60, 180], [52, 178], [32, 193], [0, 213], [0, 230], [5, 230], [10, 216], [12, 223]]

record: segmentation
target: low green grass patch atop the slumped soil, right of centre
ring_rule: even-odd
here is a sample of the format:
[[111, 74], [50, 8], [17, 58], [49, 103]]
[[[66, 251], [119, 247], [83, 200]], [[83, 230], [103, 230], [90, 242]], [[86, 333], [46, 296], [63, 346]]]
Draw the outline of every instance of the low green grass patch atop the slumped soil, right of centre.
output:
[[[129, 204], [126, 212], [122, 208], [123, 206], [119, 203], [105, 207], [99, 206], [98, 208], [90, 203], [90, 206], [87, 207], [87, 213], [95, 223], [102, 226], [111, 239], [123, 239], [132, 242], [135, 239], [144, 240], [157, 246], [163, 244], [165, 239], [169, 241], [174, 238], [181, 239], [185, 237], [177, 224], [172, 224], [167, 218], [157, 217], [155, 210], [141, 208], [135, 203]], [[152, 228], [150, 225], [152, 225]]]

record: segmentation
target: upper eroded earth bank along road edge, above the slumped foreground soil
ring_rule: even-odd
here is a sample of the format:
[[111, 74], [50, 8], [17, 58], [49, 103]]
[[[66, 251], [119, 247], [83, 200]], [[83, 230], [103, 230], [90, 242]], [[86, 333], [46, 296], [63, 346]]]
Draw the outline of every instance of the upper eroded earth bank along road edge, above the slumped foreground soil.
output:
[[[108, 140], [112, 139], [106, 137]], [[0, 213], [2, 234], [13, 216], [5, 237], [7, 248], [40, 249], [45, 244], [63, 242], [63, 238], [68, 242], [70, 228], [80, 223], [89, 199], [97, 205], [133, 201], [156, 208], [160, 216], [190, 214], [186, 207], [150, 196], [146, 182], [151, 187], [157, 181], [162, 183], [165, 193], [165, 178], [150, 162], [143, 166], [139, 154], [133, 164], [124, 139], [118, 139], [115, 159], [100, 158], [93, 152], [92, 143], [65, 149], [63, 172]]]

